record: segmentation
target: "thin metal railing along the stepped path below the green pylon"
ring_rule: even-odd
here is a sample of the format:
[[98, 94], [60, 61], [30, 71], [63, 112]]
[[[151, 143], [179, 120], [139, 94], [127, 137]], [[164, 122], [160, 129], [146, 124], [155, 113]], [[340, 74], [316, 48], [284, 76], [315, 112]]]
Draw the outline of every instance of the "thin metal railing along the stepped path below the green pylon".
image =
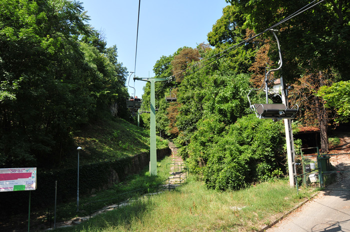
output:
[[[155, 186], [153, 187], [148, 187], [148, 188], [142, 188], [142, 189], [136, 189], [136, 190], [133, 190], [133, 191], [129, 191], [129, 192], [126, 192], [126, 193], [122, 193], [122, 194], [119, 194], [117, 195], [115, 198], [110, 198], [110, 199], [105, 199], [105, 200], [99, 200], [99, 201], [93, 201], [93, 202], [89, 202], [87, 203], [89, 205], [89, 217], [91, 218], [91, 214], [94, 213], [94, 212], [98, 212], [98, 211], [103, 211], [103, 210], [109, 210], [109, 209], [114, 209], [114, 208], [118, 208], [121, 204], [124, 204], [124, 203], [127, 203], [129, 202], [130, 200], [132, 199], [135, 199], [135, 198], [138, 198], [140, 197], [141, 195], [144, 195], [144, 194], [151, 194], [150, 190], [151, 189], [155, 189], [156, 191], [153, 192], [153, 193], [159, 193], [161, 192], [162, 190], [164, 189], [168, 189], [168, 191], [170, 191], [170, 187], [171, 186], [176, 186], [177, 184], [170, 184], [170, 180], [174, 180], [174, 179], [179, 179], [179, 185], [181, 185], [181, 182], [183, 182], [185, 179], [187, 179], [187, 173], [188, 173], [188, 170], [186, 170], [185, 172], [181, 173], [178, 177], [174, 177], [174, 178], [167, 178], [166, 180], [164, 181], [161, 181], [159, 182], [158, 184], [156, 184]], [[185, 175], [184, 178], [181, 179], [181, 176], [182, 175]], [[164, 182], [167, 181], [167, 184], [163, 184]], [[160, 187], [160, 188], [159, 188]], [[133, 193], [133, 194], [132, 194]], [[136, 194], [134, 194], [136, 193]], [[138, 194], [137, 194], [138, 193]], [[129, 198], [125, 197], [125, 195], [127, 194], [132, 194]], [[98, 210], [91, 210], [91, 204], [94, 204], [94, 203], [102, 203], [102, 202], [108, 202], [108, 201], [111, 201], [113, 202], [114, 200], [118, 200], [118, 199], [126, 199], [126, 200], [123, 200], [121, 202], [118, 202], [114, 205], [111, 205], [109, 207], [106, 207], [106, 208], [102, 208], [102, 209], [98, 209]]]

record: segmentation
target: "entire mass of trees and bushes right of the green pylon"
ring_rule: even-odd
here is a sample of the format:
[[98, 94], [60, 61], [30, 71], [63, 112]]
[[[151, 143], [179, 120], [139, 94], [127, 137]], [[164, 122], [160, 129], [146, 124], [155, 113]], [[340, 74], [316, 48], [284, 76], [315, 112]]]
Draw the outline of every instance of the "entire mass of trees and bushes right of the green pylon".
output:
[[[161, 57], [154, 66], [159, 71], [157, 76], [181, 74], [177, 78], [177, 102], [159, 101], [157, 130], [184, 145], [180, 154], [190, 171], [201, 174], [206, 186], [216, 190], [239, 189], [285, 171], [283, 124], [248, 115], [246, 99], [251, 87], [261, 85], [264, 68], [277, 66], [275, 38], [268, 32], [242, 46], [236, 44], [309, 3], [226, 1], [231, 5], [223, 8], [222, 17], [208, 33], [209, 44], [192, 50], [180, 48], [171, 56]], [[271, 86], [272, 79], [282, 74], [288, 85], [294, 85], [289, 104], [299, 104], [297, 120], [301, 125], [319, 125], [323, 152], [328, 150], [331, 120], [327, 107], [336, 107], [342, 121], [348, 118], [347, 108], [338, 104], [347, 101], [347, 85], [340, 82], [330, 89], [322, 87], [349, 77], [344, 68], [349, 66], [348, 60], [343, 59], [349, 46], [348, 9], [347, 1], [323, 2], [275, 28], [279, 30], [283, 67], [271, 76]], [[188, 51], [195, 49], [199, 59], [186, 61], [179, 56], [186, 53], [192, 57]], [[178, 60], [185, 65], [178, 65]], [[162, 86], [167, 91], [171, 87]], [[148, 94], [145, 91], [144, 97]], [[258, 100], [260, 94], [264, 92], [251, 96], [252, 101], [264, 102]]]

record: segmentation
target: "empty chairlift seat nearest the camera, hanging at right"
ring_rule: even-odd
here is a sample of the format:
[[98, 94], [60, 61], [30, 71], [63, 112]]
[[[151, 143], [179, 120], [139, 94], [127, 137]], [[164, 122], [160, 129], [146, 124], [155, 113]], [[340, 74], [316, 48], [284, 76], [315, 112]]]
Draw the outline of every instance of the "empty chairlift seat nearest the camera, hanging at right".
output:
[[298, 109], [285, 108], [284, 104], [254, 104], [256, 116], [262, 119], [294, 119]]

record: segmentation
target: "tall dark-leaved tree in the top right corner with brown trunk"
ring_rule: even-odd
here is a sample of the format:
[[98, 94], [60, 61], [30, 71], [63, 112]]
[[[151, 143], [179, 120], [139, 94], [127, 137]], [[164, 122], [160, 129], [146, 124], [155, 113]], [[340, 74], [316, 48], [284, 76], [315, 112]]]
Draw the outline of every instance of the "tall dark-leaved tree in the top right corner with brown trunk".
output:
[[[249, 18], [249, 25], [255, 32], [261, 32], [281, 19], [291, 15], [309, 1], [266, 1], [260, 4], [258, 0], [227, 0], [237, 5]], [[343, 0], [323, 1], [302, 14], [299, 14], [279, 26], [278, 34], [281, 42], [284, 66], [283, 77], [295, 80], [298, 77], [308, 75], [310, 72], [318, 80], [316, 86], [322, 86], [324, 78], [330, 78], [334, 73], [342, 79], [349, 78], [349, 60], [343, 59], [350, 48], [348, 40], [350, 36], [350, 7], [349, 2]], [[330, 72], [331, 71], [331, 72]], [[315, 97], [314, 99], [317, 99]], [[315, 104], [313, 112], [326, 111], [323, 104]], [[303, 108], [303, 106], [302, 106]], [[328, 123], [327, 116], [318, 115], [321, 137], [324, 138], [321, 150], [328, 151], [326, 142]]]

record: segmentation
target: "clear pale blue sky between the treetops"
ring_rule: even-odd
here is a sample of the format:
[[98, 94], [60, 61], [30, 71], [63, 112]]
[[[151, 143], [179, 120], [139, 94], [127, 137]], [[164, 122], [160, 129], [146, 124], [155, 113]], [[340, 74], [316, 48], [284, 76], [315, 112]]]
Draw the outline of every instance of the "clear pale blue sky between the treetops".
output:
[[[141, 0], [135, 68], [139, 1], [80, 1], [90, 16], [89, 24], [104, 32], [107, 46], [115, 44], [118, 49], [118, 61], [138, 77], [153, 77], [153, 66], [162, 55], [207, 42], [207, 33], [228, 5], [225, 0]], [[131, 78], [129, 84], [141, 97], [145, 82]], [[128, 92], [133, 95], [134, 91], [128, 87]]]

